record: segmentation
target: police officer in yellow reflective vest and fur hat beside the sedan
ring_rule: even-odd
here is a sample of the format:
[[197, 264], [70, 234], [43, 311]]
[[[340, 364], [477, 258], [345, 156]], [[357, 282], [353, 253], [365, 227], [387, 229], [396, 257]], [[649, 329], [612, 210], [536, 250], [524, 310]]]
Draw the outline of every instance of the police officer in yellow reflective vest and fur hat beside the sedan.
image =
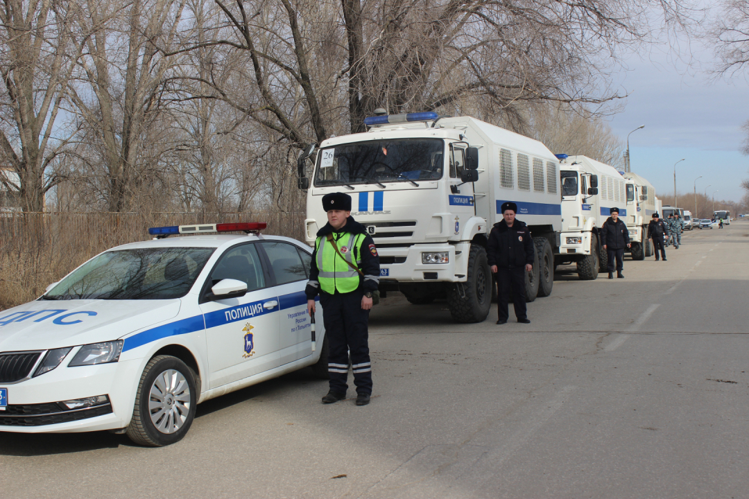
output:
[[357, 405], [367, 405], [372, 395], [367, 322], [372, 293], [380, 284], [380, 257], [365, 227], [351, 218], [351, 196], [342, 192], [324, 195], [323, 208], [328, 223], [318, 230], [305, 290], [307, 311], [315, 311], [319, 293], [324, 312], [330, 391], [323, 403], [346, 398], [351, 355]]

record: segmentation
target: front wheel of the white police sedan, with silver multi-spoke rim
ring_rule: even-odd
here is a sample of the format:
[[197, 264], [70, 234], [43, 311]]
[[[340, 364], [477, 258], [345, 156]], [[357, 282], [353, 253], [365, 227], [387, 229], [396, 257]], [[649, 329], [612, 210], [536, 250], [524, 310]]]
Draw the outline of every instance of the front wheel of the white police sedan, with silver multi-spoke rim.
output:
[[181, 441], [192, 425], [196, 405], [195, 373], [176, 357], [157, 355], [141, 375], [127, 436], [148, 447]]

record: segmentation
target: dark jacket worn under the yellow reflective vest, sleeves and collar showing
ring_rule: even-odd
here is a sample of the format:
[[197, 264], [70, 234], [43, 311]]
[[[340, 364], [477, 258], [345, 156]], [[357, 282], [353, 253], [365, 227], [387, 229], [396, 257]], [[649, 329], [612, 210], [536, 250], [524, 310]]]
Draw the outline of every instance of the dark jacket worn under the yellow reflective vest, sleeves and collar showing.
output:
[[[341, 249], [340, 239], [343, 239], [345, 234], [366, 234], [366, 228], [358, 221], [354, 220], [354, 217], [348, 217], [346, 224], [341, 227], [340, 230], [333, 230], [333, 226], [330, 223], [325, 224], [323, 228], [318, 230], [318, 237], [327, 236], [333, 233], [333, 237], [336, 239], [336, 245], [338, 249]], [[358, 251], [359, 248], [354, 248], [354, 263], [361, 259], [359, 269], [364, 272], [364, 276], [359, 276], [359, 287], [357, 292], [366, 293], [367, 291], [376, 291], [380, 285], [380, 256], [377, 254], [377, 248], [375, 248], [375, 242], [371, 236], [366, 236], [364, 242], [362, 242], [361, 256]], [[320, 275], [320, 269], [318, 269], [318, 251], [312, 252], [312, 263], [309, 266], [309, 282], [304, 290], [308, 300], [314, 300], [318, 293], [324, 293], [320, 290], [320, 284], [318, 282], [318, 275]], [[336, 264], [338, 268], [338, 264]], [[338, 293], [336, 291], [336, 293]]]

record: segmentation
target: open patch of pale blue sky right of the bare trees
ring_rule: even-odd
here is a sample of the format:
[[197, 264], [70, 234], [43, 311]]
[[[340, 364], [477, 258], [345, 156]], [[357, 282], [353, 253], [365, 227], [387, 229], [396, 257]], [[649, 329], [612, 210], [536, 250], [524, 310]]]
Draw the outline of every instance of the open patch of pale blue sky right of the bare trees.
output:
[[676, 165], [677, 192], [694, 192], [701, 175], [697, 192], [710, 186], [708, 196], [718, 191], [716, 200], [739, 201], [745, 194], [740, 184], [749, 178], [749, 156], [739, 152], [741, 126], [749, 120], [749, 81], [709, 75], [709, 48], [694, 56], [687, 64], [656, 47], [628, 58], [629, 70], [616, 79], [619, 91], [630, 95], [610, 126], [626, 147], [627, 134], [645, 125], [629, 137], [631, 171], [649, 180], [656, 193], [673, 195], [673, 165], [685, 158]]

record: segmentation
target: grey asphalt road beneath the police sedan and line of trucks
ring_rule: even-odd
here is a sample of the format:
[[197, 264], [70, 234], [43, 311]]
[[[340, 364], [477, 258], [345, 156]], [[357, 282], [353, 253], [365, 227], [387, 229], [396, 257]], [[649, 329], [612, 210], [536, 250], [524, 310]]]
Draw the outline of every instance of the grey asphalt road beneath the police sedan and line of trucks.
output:
[[560, 267], [530, 325], [383, 299], [366, 407], [300, 371], [198, 406], [171, 447], [2, 433], [0, 497], [747, 497], [749, 223], [682, 242], [623, 280]]

